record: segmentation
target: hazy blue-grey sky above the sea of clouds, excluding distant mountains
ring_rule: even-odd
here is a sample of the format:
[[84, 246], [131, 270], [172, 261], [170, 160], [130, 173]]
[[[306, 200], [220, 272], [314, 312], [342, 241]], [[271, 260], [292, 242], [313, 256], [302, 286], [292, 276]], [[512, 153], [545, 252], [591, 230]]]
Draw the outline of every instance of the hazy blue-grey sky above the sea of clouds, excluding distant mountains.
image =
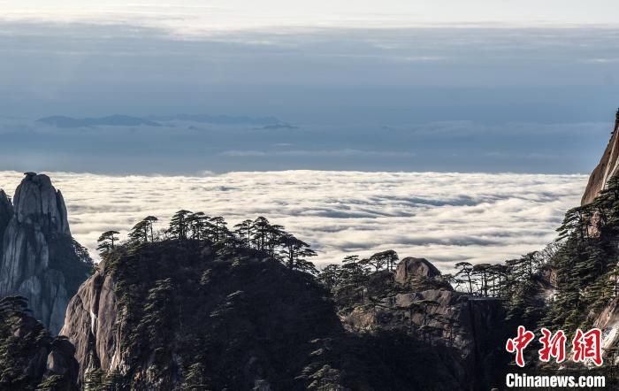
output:
[[588, 173], [619, 106], [611, 1], [0, 7], [4, 169]]

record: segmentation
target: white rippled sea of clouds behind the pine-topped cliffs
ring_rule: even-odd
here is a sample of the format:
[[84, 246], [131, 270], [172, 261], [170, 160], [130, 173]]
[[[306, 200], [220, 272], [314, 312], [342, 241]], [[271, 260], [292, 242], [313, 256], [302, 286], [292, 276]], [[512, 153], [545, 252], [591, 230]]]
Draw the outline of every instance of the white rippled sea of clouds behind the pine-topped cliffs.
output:
[[[460, 261], [495, 263], [541, 249], [577, 205], [585, 175], [280, 171], [200, 176], [48, 173], [62, 190], [75, 238], [96, 257], [100, 233], [126, 235], [154, 215], [164, 227], [180, 209], [264, 216], [310, 242], [318, 265], [395, 249], [449, 272]], [[11, 194], [21, 173], [0, 172]]]

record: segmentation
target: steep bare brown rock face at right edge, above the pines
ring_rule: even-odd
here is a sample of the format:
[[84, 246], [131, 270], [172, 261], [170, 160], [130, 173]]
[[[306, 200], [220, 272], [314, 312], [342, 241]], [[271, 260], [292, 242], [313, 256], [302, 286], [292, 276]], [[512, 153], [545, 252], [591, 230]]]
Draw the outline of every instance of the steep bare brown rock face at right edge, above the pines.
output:
[[606, 150], [604, 150], [604, 155], [602, 155], [600, 163], [589, 177], [589, 183], [587, 183], [581, 202], [583, 205], [591, 203], [606, 186], [607, 181], [619, 173], [619, 137], [617, 136], [617, 130], [619, 130], [619, 111], [616, 114], [613, 135], [608, 142]]

